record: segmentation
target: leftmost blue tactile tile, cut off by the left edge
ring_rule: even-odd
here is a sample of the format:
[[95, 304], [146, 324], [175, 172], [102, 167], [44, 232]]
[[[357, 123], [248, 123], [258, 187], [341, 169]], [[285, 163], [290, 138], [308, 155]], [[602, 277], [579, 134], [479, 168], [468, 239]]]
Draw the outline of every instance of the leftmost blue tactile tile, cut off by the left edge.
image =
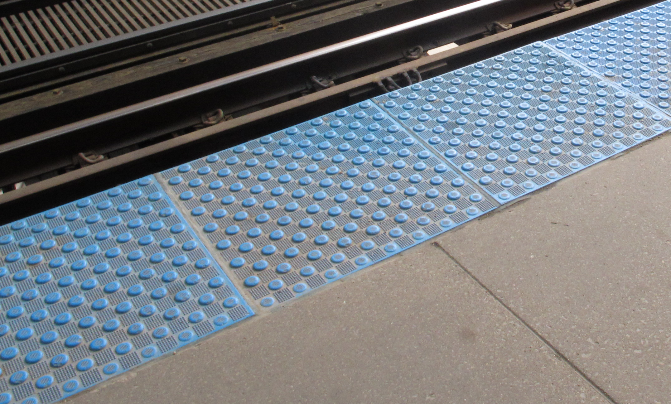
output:
[[0, 403], [51, 403], [253, 314], [153, 176], [0, 227]]

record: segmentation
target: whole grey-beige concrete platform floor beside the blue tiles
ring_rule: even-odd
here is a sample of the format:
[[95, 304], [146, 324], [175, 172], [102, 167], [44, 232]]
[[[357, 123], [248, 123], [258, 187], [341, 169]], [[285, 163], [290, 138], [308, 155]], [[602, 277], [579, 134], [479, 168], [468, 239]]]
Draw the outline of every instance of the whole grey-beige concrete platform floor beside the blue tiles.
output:
[[66, 401], [667, 403], [670, 155], [656, 138]]

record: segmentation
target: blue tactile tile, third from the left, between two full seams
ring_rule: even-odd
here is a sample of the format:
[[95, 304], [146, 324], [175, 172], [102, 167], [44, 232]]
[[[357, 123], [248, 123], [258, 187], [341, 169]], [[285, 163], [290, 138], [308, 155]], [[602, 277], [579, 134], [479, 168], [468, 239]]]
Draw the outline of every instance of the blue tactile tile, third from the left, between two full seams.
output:
[[541, 42], [374, 101], [501, 203], [671, 127]]

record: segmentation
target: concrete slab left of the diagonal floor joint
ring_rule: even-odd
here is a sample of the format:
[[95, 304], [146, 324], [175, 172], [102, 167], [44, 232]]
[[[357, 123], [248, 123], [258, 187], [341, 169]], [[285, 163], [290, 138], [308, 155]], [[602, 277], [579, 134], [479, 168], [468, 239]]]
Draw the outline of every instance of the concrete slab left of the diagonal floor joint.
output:
[[606, 403], [429, 243], [70, 403]]

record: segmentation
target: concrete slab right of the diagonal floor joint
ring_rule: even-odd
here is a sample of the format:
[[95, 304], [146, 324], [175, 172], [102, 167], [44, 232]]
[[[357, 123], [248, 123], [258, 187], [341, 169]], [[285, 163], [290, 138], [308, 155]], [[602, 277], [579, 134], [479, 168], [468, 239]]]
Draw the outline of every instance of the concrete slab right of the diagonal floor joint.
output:
[[671, 397], [671, 136], [438, 242], [618, 403]]

